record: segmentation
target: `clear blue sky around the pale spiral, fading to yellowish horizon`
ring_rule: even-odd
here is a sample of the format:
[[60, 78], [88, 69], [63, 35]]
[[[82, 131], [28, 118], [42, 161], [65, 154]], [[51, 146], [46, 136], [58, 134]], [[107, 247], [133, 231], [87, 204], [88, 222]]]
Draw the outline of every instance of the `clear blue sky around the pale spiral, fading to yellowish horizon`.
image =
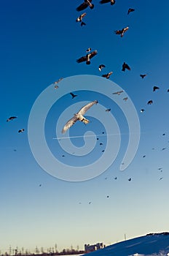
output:
[[[121, 241], [124, 234], [132, 238], [168, 230], [169, 4], [168, 1], [154, 4], [152, 0], [117, 0], [114, 6], [101, 5], [98, 0], [93, 3], [93, 10], [84, 10], [87, 25], [81, 27], [75, 21], [82, 13], [76, 11], [81, 4], [79, 0], [1, 2], [2, 252], [10, 245], [23, 246], [32, 252], [36, 246], [45, 249], [55, 244], [59, 250], [71, 245], [83, 249], [86, 243]], [[135, 8], [135, 12], [127, 15], [129, 7]], [[125, 26], [129, 29], [124, 37], [114, 34], [114, 30]], [[98, 55], [88, 66], [77, 64], [76, 59], [84, 56], [89, 47], [98, 50]], [[124, 61], [130, 65], [130, 71], [122, 72]], [[98, 71], [99, 64], [106, 65], [102, 72]], [[105, 108], [111, 108], [110, 114], [120, 128], [121, 145], [113, 165], [96, 178], [68, 182], [50, 176], [36, 162], [28, 143], [28, 118], [36, 98], [48, 86], [52, 88], [59, 78], [101, 77], [111, 70], [110, 80], [125, 90], [140, 120], [141, 140], [133, 162], [125, 171], [119, 171], [127, 148], [128, 128], [117, 105], [97, 91], [89, 94], [83, 83], [79, 84], [79, 90], [83, 91], [76, 91], [78, 97], [73, 101], [69, 94], [73, 85], [67, 83], [68, 91], [52, 106], [45, 124], [47, 143], [55, 157], [76, 165], [81, 161], [90, 163], [90, 156], [97, 159], [103, 153], [96, 144], [88, 159], [70, 156], [53, 140], [59, 115], [72, 103], [81, 101], [98, 99]], [[148, 75], [141, 79], [140, 74], [144, 73]], [[100, 79], [106, 93], [108, 81]], [[66, 83], [63, 81], [59, 84], [60, 91], [62, 83]], [[153, 86], [159, 86], [160, 90], [152, 92]], [[53, 94], [58, 91], [53, 89]], [[153, 100], [152, 105], [147, 105], [149, 99]], [[97, 107], [93, 106], [93, 111]], [[141, 108], [144, 113], [140, 113]], [[9, 116], [17, 119], [7, 122]], [[103, 124], [90, 119], [90, 130], [101, 134]], [[25, 132], [19, 134], [17, 131], [22, 128]], [[34, 131], [35, 135], [39, 132], [36, 126]], [[87, 126], [76, 123], [70, 134], [80, 136], [86, 131]], [[99, 143], [103, 142], [104, 147], [107, 140], [109, 136], [100, 137]], [[84, 144], [82, 138], [72, 142], [76, 146]], [[160, 167], [162, 172], [158, 170]], [[128, 181], [130, 177], [132, 181]]]

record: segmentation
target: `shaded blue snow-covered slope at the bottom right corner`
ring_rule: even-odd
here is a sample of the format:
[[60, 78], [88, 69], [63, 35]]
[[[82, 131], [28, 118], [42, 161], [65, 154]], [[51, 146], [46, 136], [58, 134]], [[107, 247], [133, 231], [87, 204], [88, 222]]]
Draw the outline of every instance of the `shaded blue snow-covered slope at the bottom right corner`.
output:
[[90, 252], [87, 256], [169, 256], [169, 233], [154, 233]]

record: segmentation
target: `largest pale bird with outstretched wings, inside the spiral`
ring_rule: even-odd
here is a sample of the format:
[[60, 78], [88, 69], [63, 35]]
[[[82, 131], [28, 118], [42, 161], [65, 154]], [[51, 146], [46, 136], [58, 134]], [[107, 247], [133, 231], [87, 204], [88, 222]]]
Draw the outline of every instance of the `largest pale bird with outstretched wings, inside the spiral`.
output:
[[62, 133], [65, 133], [67, 131], [67, 129], [69, 129], [70, 127], [72, 127], [72, 125], [74, 125], [76, 123], [76, 121], [82, 121], [84, 124], [88, 124], [90, 121], [87, 120], [86, 118], [84, 118], [84, 113], [87, 112], [87, 110], [89, 110], [94, 104], [97, 104], [98, 100], [94, 100], [93, 102], [88, 103], [87, 105], [84, 105], [84, 107], [82, 107], [79, 112], [77, 112], [76, 114], [74, 114], [74, 116], [67, 121], [67, 123], [65, 124], [65, 126], [62, 129]]

